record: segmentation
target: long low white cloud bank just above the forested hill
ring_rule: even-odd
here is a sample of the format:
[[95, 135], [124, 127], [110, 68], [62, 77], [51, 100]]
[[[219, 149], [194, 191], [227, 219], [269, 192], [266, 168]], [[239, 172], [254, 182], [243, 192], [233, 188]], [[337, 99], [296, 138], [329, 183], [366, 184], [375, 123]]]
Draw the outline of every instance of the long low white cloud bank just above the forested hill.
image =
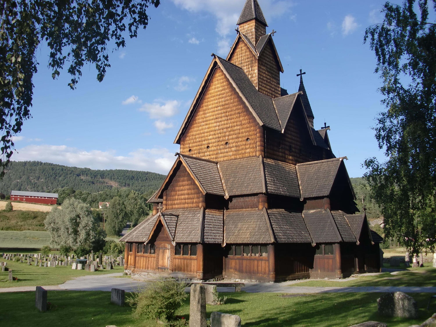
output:
[[65, 145], [30, 145], [14, 153], [13, 160], [38, 160], [91, 169], [132, 169], [167, 174], [174, 163], [174, 153], [166, 148], [137, 149], [126, 156], [114, 150], [82, 150]]

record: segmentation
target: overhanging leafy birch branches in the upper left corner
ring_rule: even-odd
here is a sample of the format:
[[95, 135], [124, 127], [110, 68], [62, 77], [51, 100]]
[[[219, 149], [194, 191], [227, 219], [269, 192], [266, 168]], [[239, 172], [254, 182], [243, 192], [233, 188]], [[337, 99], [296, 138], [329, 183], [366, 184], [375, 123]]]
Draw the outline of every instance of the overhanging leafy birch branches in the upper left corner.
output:
[[[37, 72], [36, 53], [41, 41], [50, 48], [48, 66], [52, 77], [68, 63], [71, 89], [82, 75], [85, 63], [95, 65], [101, 82], [114, 45], [124, 47], [126, 27], [129, 37], [148, 24], [146, 9], [160, 0], [8, 0], [0, 5], [0, 165], [10, 162], [12, 137], [31, 117], [33, 83]], [[127, 26], [126, 26], [127, 23]], [[110, 41], [115, 41], [110, 45]], [[68, 65], [67, 64], [67, 65]]]

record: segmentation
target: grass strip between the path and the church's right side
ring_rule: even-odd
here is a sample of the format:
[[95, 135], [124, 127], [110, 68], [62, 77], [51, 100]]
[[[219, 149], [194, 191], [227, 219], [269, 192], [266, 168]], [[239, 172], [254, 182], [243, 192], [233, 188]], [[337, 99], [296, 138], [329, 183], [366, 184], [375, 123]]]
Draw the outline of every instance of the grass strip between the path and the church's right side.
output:
[[[415, 272], [414, 272], [415, 271]], [[361, 274], [357, 279], [349, 281], [335, 280], [307, 280], [307, 282], [291, 284], [292, 286], [435, 286], [436, 269], [432, 263], [424, 264], [422, 268], [409, 268], [408, 271], [391, 275], [385, 272], [378, 276]]]

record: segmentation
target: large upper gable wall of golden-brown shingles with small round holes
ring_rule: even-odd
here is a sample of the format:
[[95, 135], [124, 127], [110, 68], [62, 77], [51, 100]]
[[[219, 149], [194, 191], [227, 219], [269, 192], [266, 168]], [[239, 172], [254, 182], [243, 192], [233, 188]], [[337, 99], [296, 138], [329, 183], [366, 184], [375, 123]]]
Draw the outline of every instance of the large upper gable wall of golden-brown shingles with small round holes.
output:
[[181, 137], [180, 152], [215, 161], [263, 154], [261, 126], [219, 68]]

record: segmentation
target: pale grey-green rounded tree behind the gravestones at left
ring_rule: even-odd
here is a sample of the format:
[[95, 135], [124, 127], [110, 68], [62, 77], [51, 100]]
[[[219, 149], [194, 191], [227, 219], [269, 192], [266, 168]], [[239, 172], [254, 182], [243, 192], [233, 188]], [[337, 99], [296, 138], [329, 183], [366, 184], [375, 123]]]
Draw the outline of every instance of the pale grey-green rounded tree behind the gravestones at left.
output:
[[74, 198], [65, 200], [61, 209], [54, 207], [44, 224], [55, 245], [69, 245], [72, 248], [82, 245], [90, 249], [105, 236], [99, 232], [99, 222], [89, 206]]

